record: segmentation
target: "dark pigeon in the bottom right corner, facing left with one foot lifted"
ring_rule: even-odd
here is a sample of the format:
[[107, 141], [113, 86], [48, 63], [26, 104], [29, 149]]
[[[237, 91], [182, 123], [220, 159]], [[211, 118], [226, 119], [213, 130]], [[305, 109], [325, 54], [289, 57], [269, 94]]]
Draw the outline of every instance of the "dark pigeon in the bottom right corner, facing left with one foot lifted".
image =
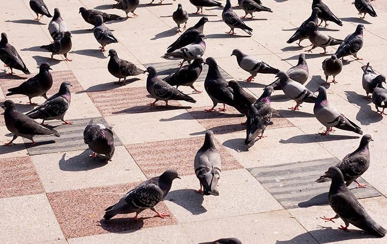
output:
[[357, 201], [353, 193], [345, 186], [344, 176], [339, 168], [332, 166], [328, 169], [332, 179], [330, 184], [328, 200], [329, 205], [336, 212], [333, 218], [321, 218], [326, 221], [333, 221], [341, 218], [345, 226], [339, 229], [348, 231], [349, 224], [379, 237], [385, 236], [387, 231], [377, 224], [367, 213], [366, 209]]

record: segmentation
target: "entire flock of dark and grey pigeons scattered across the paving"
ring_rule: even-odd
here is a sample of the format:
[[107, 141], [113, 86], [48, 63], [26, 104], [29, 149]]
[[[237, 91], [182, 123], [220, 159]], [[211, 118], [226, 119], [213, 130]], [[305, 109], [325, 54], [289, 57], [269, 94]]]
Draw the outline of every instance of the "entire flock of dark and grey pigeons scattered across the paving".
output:
[[[138, 16], [134, 11], [139, 5], [139, 0], [116, 1], [118, 3], [114, 5], [114, 8], [125, 11], [127, 18], [129, 18], [129, 12], [133, 14], [133, 17]], [[153, 3], [153, 1], [151, 3]], [[162, 0], [160, 1], [160, 4], [161, 3]], [[190, 3], [197, 7], [197, 13], [199, 13], [199, 11], [203, 13], [203, 7], [222, 6], [221, 3], [213, 0], [190, 0]], [[240, 18], [233, 12], [230, 0], [226, 1], [226, 6], [222, 14], [224, 22], [231, 28], [230, 32], [228, 32], [230, 35], [234, 34], [234, 28], [240, 28], [247, 34], [252, 35], [253, 29], [248, 27], [242, 21], [242, 18], [245, 18], [247, 14], [250, 14], [251, 18], [253, 18], [254, 12], [272, 12], [271, 9], [262, 6], [260, 0], [238, 0], [238, 3], [239, 7], [245, 11], [245, 16]], [[37, 21], [43, 16], [52, 17], [43, 0], [31, 0], [30, 6], [37, 15]], [[361, 18], [364, 18], [367, 13], [372, 17], [377, 16], [369, 0], [355, 0], [355, 7], [359, 11], [359, 14], [364, 14]], [[106, 45], [118, 42], [113, 33], [104, 25], [104, 22], [123, 19], [123, 17], [103, 13], [97, 10], [88, 10], [84, 7], [79, 8], [79, 13], [86, 22], [94, 26], [94, 37], [101, 45], [101, 51], [105, 51]], [[39, 14], [41, 15], [40, 17]], [[173, 13], [172, 17], [177, 24], [178, 32], [181, 32], [181, 24], [184, 24], [183, 30], [186, 29], [188, 14], [182, 9], [181, 4], [178, 4], [178, 8]], [[321, 20], [320, 24], [318, 23], [318, 19]], [[316, 47], [321, 47], [324, 49], [323, 53], [326, 53], [325, 48], [327, 46], [340, 45], [336, 53], [331, 55], [331, 57], [326, 58], [322, 63], [322, 69], [326, 76], [325, 84], [329, 83], [329, 76], [333, 76], [332, 82], [336, 83], [335, 77], [343, 69], [342, 60], [345, 56], [353, 55], [355, 59], [361, 59], [357, 57], [357, 52], [363, 46], [364, 25], [357, 25], [353, 34], [348, 35], [344, 40], [339, 40], [327, 36], [318, 30], [318, 26], [321, 25], [323, 21], [325, 22], [324, 27], [328, 25], [328, 21], [334, 22], [340, 26], [343, 25], [340, 19], [330, 11], [327, 5], [322, 3], [321, 0], [313, 0], [311, 16], [300, 25], [287, 43], [293, 43], [298, 40], [298, 45], [300, 45], [302, 40], [309, 39], [312, 43], [312, 47], [308, 52], [312, 52]], [[326, 130], [323, 133], [320, 133], [322, 135], [328, 135], [330, 132], [333, 132], [333, 128], [352, 131], [361, 135], [363, 134], [359, 126], [345, 117], [328, 102], [324, 86], [318, 87], [318, 95], [315, 95], [303, 85], [309, 77], [307, 60], [303, 53], [299, 55], [298, 64], [284, 72], [258, 60], [256, 57], [243, 53], [239, 49], [233, 50], [231, 55], [236, 57], [239, 67], [250, 73], [250, 77], [248, 77], [246, 81], [251, 82], [258, 73], [275, 74], [276, 77], [278, 77], [277, 80], [265, 87], [263, 94], [258, 99], [245, 92], [237, 81], [226, 81], [220, 73], [214, 58], [208, 57], [204, 60], [201, 57], [206, 49], [206, 37], [203, 34], [204, 24], [206, 22], [209, 22], [208, 18], [202, 17], [197, 24], [186, 29], [186, 31], [167, 48], [167, 52], [162, 57], [178, 58], [182, 59], [182, 62], [179, 70], [164, 79], [157, 77], [157, 71], [154, 67], [148, 67], [144, 71], [127, 60], [120, 59], [114, 49], [108, 51], [110, 59], [107, 69], [110, 74], [119, 78], [115, 83], [124, 85], [126, 84], [126, 78], [128, 76], [136, 76], [147, 72], [148, 78], [146, 88], [148, 93], [155, 99], [150, 105], [156, 105], [156, 102], [161, 100], [165, 101], [165, 106], [168, 106], [168, 101], [170, 100], [184, 100], [196, 103], [195, 99], [183, 94], [177, 88], [179, 86], [190, 86], [193, 89], [193, 93], [202, 93], [202, 91], [195, 88], [194, 83], [202, 73], [202, 65], [208, 65], [208, 73], [206, 75], [204, 87], [213, 102], [213, 106], [206, 109], [206, 111], [215, 111], [215, 107], [220, 103], [223, 104], [223, 108], [219, 108], [219, 111], [226, 111], [226, 105], [229, 105], [235, 107], [241, 114], [246, 115], [246, 139], [244, 143], [248, 146], [253, 146], [257, 140], [265, 137], [263, 136], [263, 133], [266, 126], [270, 125], [272, 113], [275, 111], [270, 106], [270, 95], [273, 90], [283, 90], [288, 98], [296, 102], [296, 105], [291, 108], [292, 110], [298, 110], [300, 104], [303, 102], [314, 103], [313, 112], [318, 121], [326, 127]], [[65, 60], [70, 62], [71, 59], [67, 57], [67, 53], [72, 48], [71, 33], [68, 31], [66, 23], [61, 17], [58, 8], [54, 9], [54, 15], [48, 25], [48, 31], [53, 42], [49, 45], [41, 46], [41, 48], [51, 52], [51, 58], [54, 54], [63, 54], [66, 58]], [[25, 74], [30, 74], [30, 71], [23, 63], [16, 49], [9, 44], [6, 33], [1, 34], [0, 59], [5, 63], [5, 67], [10, 68], [11, 75], [14, 74], [13, 69], [20, 70]], [[185, 62], [188, 62], [189, 64], [183, 66]], [[385, 76], [376, 74], [369, 63], [361, 68], [364, 71], [363, 88], [367, 94], [366, 99], [369, 99], [369, 95], [372, 94], [372, 102], [375, 104], [377, 112], [385, 114], [384, 109], [387, 107], [387, 90], [382, 87], [382, 82], [385, 82]], [[11, 146], [18, 136], [32, 140], [32, 144], [36, 143], [33, 140], [35, 135], [53, 135], [59, 137], [60, 135], [56, 130], [45, 127], [44, 121], [46, 120], [60, 119], [64, 124], [72, 124], [72, 122], [64, 119], [66, 111], [70, 106], [71, 84], [67, 81], [63, 82], [59, 92], [50, 98], [47, 98], [46, 93], [52, 86], [50, 70], [50, 65], [43, 63], [40, 65], [39, 73], [37, 75], [17, 87], [9, 89], [7, 96], [16, 94], [25, 95], [29, 98], [29, 103], [31, 105], [37, 105], [31, 101], [31, 99], [35, 97], [42, 96], [46, 101], [26, 114], [17, 111], [13, 101], [6, 100], [4, 102], [5, 123], [8, 130], [14, 134], [13, 139], [5, 145]], [[121, 82], [121, 79], [124, 79], [123, 82]], [[174, 87], [175, 85], [176, 88]], [[379, 110], [379, 107], [382, 108], [382, 111]], [[42, 119], [41, 124], [34, 120], [38, 118]], [[93, 150], [91, 157], [95, 158], [98, 157], [97, 154], [102, 154], [105, 155], [106, 161], [108, 161], [114, 156], [114, 139], [113, 132], [110, 128], [106, 128], [100, 124], [93, 125], [91, 121], [90, 125], [88, 125], [84, 131], [84, 140], [85, 143], [89, 145], [90, 149]], [[356, 179], [360, 177], [370, 165], [370, 152], [368, 148], [368, 143], [370, 141], [372, 141], [371, 136], [364, 135], [361, 139], [360, 146], [353, 153], [348, 154], [342, 162], [336, 166], [330, 167], [328, 171], [316, 181], [324, 182], [331, 179], [329, 203], [337, 215], [334, 218], [324, 217], [326, 221], [341, 218], [345, 223], [345, 226], [340, 227], [343, 230], [347, 230], [349, 223], [351, 223], [368, 233], [384, 236], [386, 230], [372, 220], [366, 210], [347, 188], [353, 181], [357, 183], [358, 187], [366, 187], [357, 182]], [[198, 190], [198, 192], [203, 193], [204, 195], [219, 195], [216, 186], [220, 178], [222, 166], [220, 155], [213, 142], [212, 131], [207, 131], [205, 135], [204, 144], [198, 150], [195, 157], [194, 168], [200, 181], [200, 190]], [[154, 206], [162, 201], [168, 194], [172, 182], [176, 178], [180, 177], [175, 170], [167, 170], [158, 177], [144, 181], [142, 184], [129, 191], [117, 204], [106, 208], [103, 218], [107, 221], [117, 214], [129, 214], [135, 212], [136, 215], [134, 219], [140, 220], [138, 215], [148, 208], [156, 213], [156, 217], [166, 217], [167, 215], [158, 212]], [[227, 238], [208, 243], [241, 242], [235, 238]]]

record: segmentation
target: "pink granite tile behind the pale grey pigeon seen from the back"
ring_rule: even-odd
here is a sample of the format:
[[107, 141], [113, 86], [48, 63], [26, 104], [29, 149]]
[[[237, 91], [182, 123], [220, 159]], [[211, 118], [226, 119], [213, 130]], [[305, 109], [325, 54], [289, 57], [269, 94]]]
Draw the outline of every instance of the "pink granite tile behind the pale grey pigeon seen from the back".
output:
[[[167, 169], [175, 169], [179, 175], [189, 175], [195, 174], [193, 159], [203, 142], [204, 136], [201, 136], [131, 144], [126, 145], [126, 148], [148, 178], [160, 175]], [[217, 140], [215, 140], [215, 145], [222, 157], [223, 170], [242, 168]]]

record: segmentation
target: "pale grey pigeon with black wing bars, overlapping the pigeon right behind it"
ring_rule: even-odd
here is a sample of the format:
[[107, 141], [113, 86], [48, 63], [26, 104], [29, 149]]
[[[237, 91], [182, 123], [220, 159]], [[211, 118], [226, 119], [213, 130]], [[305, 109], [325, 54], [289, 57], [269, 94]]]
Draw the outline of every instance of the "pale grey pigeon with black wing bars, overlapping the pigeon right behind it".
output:
[[284, 71], [277, 74], [280, 78], [280, 84], [285, 95], [296, 102], [296, 106], [291, 110], [298, 110], [298, 107], [303, 102], [315, 103], [317, 96], [312, 93], [307, 87], [289, 78], [289, 75]]

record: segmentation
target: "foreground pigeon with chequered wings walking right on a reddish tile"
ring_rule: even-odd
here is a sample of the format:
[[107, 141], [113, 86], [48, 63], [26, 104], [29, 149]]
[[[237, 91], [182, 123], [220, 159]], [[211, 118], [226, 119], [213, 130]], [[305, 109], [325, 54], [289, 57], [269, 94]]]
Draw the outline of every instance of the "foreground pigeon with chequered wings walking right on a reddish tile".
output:
[[147, 208], [157, 214], [155, 217], [165, 218], [169, 216], [158, 212], [155, 206], [167, 196], [171, 190], [172, 181], [176, 178], [180, 179], [180, 176], [175, 170], [167, 170], [160, 176], [142, 182], [126, 193], [118, 203], [106, 208], [103, 219], [107, 221], [119, 214], [135, 212], [134, 220], [141, 220], [138, 216]]

